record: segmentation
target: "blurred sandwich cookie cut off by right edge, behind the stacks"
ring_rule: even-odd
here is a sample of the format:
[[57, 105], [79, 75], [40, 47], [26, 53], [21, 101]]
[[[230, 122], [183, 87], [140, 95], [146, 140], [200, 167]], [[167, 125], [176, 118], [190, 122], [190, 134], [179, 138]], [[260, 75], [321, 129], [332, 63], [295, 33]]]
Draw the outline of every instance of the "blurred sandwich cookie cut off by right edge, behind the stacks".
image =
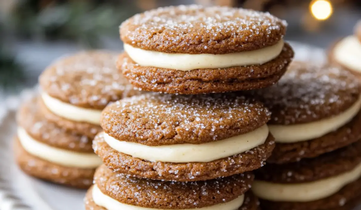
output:
[[361, 78], [361, 21], [355, 26], [355, 34], [337, 41], [330, 49], [331, 63], [342, 66]]

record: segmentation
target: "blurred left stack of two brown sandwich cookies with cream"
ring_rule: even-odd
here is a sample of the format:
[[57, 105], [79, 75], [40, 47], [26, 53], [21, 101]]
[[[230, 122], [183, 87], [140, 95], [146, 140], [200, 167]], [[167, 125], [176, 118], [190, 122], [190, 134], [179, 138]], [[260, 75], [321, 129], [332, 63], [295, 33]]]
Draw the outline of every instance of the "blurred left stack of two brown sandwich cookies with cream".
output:
[[118, 73], [117, 55], [83, 52], [61, 58], [40, 76], [41, 95], [17, 115], [16, 159], [27, 174], [76, 188], [92, 184], [101, 164], [92, 140], [101, 131], [101, 110], [139, 94]]

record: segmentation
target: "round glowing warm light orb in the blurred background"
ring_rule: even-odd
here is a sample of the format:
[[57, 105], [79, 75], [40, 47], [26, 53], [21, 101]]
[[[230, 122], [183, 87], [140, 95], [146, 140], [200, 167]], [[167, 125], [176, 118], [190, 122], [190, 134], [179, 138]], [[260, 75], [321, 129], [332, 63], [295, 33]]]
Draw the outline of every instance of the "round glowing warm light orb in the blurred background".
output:
[[328, 0], [311, 1], [310, 10], [313, 17], [321, 21], [328, 19], [333, 12], [332, 5]]

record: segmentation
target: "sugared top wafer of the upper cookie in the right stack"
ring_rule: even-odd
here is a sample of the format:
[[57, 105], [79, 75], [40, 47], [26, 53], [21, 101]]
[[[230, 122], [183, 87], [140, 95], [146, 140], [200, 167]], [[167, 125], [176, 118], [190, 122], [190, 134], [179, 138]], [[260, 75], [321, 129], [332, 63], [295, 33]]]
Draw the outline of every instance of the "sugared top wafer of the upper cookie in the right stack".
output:
[[360, 98], [360, 85], [349, 72], [295, 62], [277, 85], [255, 90], [272, 112], [269, 124], [300, 124], [338, 115]]

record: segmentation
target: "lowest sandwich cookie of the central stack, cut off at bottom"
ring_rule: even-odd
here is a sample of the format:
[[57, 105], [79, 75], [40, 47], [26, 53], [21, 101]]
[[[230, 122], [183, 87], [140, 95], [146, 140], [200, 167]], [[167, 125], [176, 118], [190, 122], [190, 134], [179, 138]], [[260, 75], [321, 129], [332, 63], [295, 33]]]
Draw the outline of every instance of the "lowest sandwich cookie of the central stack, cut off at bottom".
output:
[[165, 182], [97, 169], [85, 198], [86, 210], [204, 209], [257, 210], [249, 192], [251, 173], [198, 182]]

